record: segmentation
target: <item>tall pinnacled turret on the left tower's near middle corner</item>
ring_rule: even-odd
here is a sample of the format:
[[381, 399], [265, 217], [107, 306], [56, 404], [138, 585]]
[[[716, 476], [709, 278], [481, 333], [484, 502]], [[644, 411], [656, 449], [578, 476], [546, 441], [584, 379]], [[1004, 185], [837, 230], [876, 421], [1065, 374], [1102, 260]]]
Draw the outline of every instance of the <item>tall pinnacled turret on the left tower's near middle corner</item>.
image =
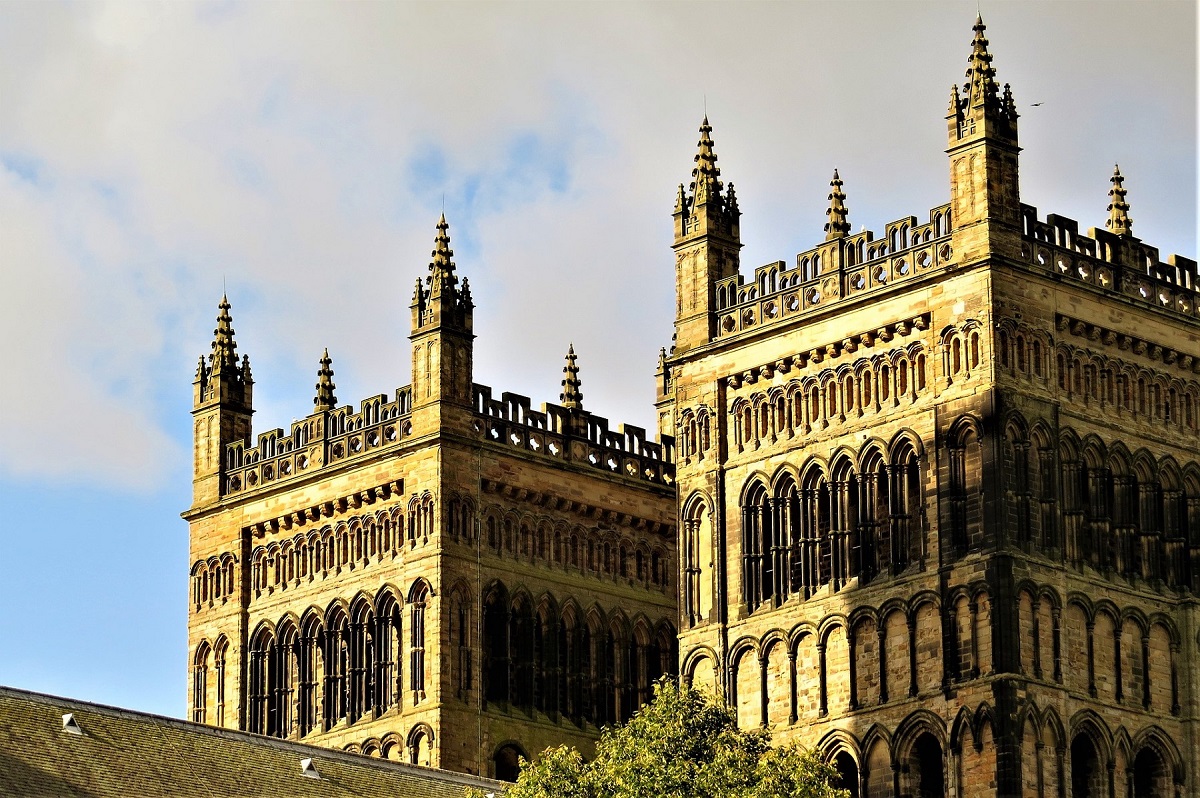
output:
[[439, 402], [469, 407], [475, 306], [467, 281], [458, 284], [450, 226], [437, 223], [430, 274], [413, 293], [413, 408]]

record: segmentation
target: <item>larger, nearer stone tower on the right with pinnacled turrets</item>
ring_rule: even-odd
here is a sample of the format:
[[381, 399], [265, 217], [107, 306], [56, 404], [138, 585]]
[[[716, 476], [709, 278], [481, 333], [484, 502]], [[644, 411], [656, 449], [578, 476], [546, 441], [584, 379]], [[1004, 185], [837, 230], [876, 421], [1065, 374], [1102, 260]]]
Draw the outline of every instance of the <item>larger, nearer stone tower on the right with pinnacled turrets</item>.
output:
[[1018, 120], [978, 20], [949, 202], [851, 234], [834, 172], [752, 278], [704, 120], [659, 373], [680, 673], [857, 797], [1196, 796], [1196, 264], [1118, 170], [1108, 229], [1040, 220]]

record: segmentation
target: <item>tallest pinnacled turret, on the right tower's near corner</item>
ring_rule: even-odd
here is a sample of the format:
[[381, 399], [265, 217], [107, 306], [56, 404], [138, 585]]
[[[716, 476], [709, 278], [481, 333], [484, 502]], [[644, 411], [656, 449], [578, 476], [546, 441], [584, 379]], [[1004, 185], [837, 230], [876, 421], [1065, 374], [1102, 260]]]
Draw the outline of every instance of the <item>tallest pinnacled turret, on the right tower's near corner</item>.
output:
[[946, 116], [954, 251], [964, 264], [1020, 252], [1019, 114], [1012, 89], [1001, 94], [996, 83], [985, 29], [977, 17], [966, 82], [961, 94], [950, 89]]

